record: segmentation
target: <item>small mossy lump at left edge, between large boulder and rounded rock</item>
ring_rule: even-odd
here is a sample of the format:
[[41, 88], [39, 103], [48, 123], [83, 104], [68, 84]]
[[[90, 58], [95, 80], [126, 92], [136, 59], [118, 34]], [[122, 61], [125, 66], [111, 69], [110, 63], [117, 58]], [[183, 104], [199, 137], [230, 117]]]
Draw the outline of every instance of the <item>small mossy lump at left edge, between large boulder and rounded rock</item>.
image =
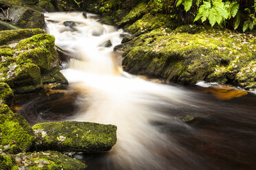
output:
[[12, 89], [6, 83], [0, 83], [0, 100], [5, 104], [10, 105], [12, 103], [13, 93]]

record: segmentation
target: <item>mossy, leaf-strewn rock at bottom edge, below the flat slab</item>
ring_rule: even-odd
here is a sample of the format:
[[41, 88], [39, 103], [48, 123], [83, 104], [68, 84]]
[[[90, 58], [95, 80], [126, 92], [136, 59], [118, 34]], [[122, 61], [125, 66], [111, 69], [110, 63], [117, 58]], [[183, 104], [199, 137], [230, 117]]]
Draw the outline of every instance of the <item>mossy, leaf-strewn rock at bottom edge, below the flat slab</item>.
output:
[[33, 153], [20, 153], [13, 155], [15, 166], [12, 168], [28, 170], [83, 170], [86, 165], [80, 160], [76, 160], [59, 153], [58, 151], [41, 151]]

